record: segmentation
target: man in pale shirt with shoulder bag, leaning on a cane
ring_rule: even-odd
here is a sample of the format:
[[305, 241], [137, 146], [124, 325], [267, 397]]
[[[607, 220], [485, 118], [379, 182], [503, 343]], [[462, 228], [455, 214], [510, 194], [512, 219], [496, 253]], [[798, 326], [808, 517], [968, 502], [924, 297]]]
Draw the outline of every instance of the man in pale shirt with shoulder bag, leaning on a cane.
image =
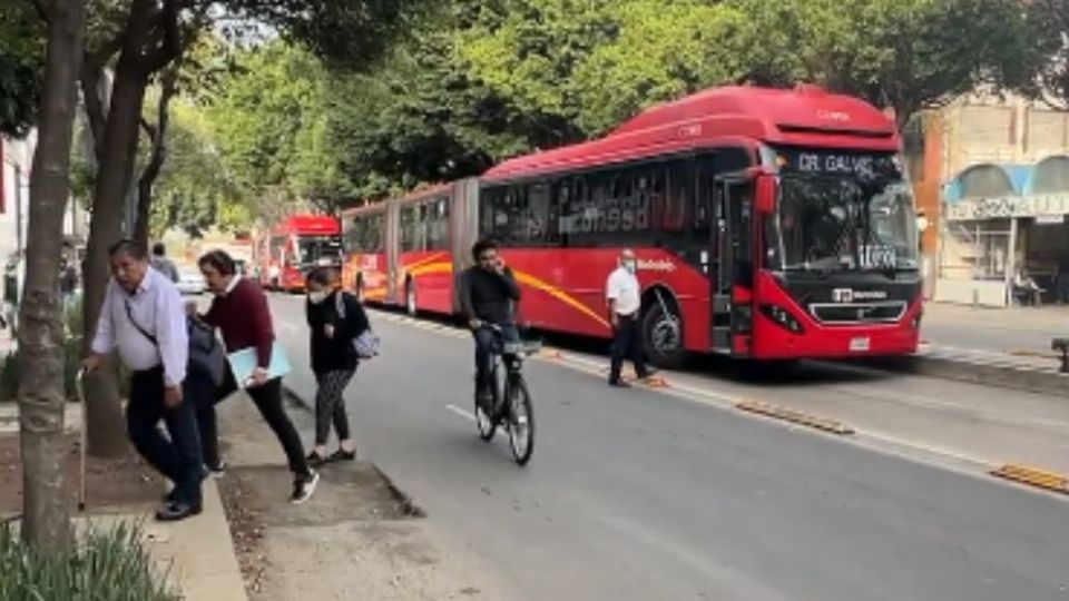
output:
[[[114, 277], [84, 366], [96, 370], [118, 347], [133, 374], [126, 408], [130, 442], [175, 484], [156, 518], [184, 520], [200, 513], [204, 477], [194, 398], [183, 394], [189, 354], [186, 311], [174, 283], [149, 266], [144, 246], [122, 240], [108, 254]], [[159, 431], [160, 420], [169, 441]]]

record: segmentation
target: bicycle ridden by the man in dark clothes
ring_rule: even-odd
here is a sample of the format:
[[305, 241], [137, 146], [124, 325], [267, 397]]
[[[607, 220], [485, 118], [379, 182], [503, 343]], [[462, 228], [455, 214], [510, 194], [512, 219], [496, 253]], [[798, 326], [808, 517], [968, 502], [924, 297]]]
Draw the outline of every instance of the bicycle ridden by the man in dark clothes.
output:
[[[490, 442], [497, 433], [498, 425], [504, 423], [509, 433], [509, 447], [512, 459], [519, 465], [527, 465], [534, 452], [534, 411], [531, 394], [523, 380], [523, 361], [541, 349], [541, 342], [501, 342], [502, 329], [494, 324], [482, 324], [499, 337], [491, 351], [490, 381], [491, 412], [488, 415], [482, 403], [479, 402], [478, 386], [475, 390], [475, 427], [483, 442]], [[504, 370], [504, 381], [501, 382], [501, 371]]]

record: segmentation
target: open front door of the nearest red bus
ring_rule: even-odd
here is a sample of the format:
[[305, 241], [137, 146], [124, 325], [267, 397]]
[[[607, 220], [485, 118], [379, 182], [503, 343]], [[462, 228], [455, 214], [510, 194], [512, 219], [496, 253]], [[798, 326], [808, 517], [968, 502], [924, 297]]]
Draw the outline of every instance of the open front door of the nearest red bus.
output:
[[753, 323], [754, 180], [739, 176], [714, 178], [713, 346], [748, 354]]

